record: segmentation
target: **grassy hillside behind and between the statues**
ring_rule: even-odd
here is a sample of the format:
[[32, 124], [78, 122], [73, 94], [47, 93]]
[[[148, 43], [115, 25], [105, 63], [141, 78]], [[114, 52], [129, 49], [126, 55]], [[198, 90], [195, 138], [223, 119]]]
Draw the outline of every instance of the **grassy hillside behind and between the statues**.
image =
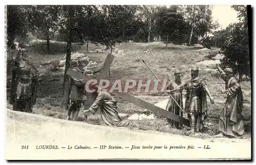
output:
[[[46, 43], [35, 43], [29, 50], [30, 61], [34, 63], [40, 73], [44, 73], [49, 70], [49, 68], [40, 67], [40, 65], [47, 61], [62, 60], [66, 55], [66, 46], [66, 43], [51, 43], [51, 54], [46, 54]], [[98, 47], [93, 44], [89, 44], [89, 50], [96, 48]], [[200, 69], [199, 76], [206, 78], [207, 86], [212, 96], [215, 98], [216, 104], [212, 105], [209, 100], [207, 100], [210, 114], [207, 122], [211, 123], [211, 125], [209, 125], [211, 130], [206, 133], [197, 133], [196, 135], [191, 136], [207, 138], [217, 133], [218, 114], [225, 102], [224, 95], [221, 94], [221, 90], [224, 89], [224, 81], [220, 79], [217, 69], [215, 68], [215, 64], [202, 65], [198, 63], [203, 60], [209, 60], [205, 57], [208, 52], [200, 52], [194, 50], [192, 47], [173, 44], [169, 44], [168, 49], [166, 50], [165, 45], [161, 42], [122, 43], [117, 44], [115, 48], [121, 50], [122, 53], [115, 54], [115, 52], [113, 52], [115, 54], [115, 59], [111, 66], [111, 76], [106, 77], [107, 79], [153, 79], [154, 76], [142, 63], [142, 60], [150, 66], [159, 79], [166, 77], [174, 79], [174, 71], [181, 70], [182, 81], [186, 81], [190, 78], [190, 68], [198, 66]], [[100, 68], [109, 51], [87, 53], [85, 45], [79, 47], [77, 44], [73, 44], [73, 52], [86, 54], [86, 56], [88, 56], [92, 61], [96, 61], [96, 67]], [[40, 79], [38, 85], [37, 104], [34, 106], [35, 114], [66, 119], [67, 112], [61, 103], [62, 83], [63, 71], [51, 71]], [[250, 82], [241, 82], [241, 87], [244, 95], [243, 115], [245, 128], [247, 137], [250, 138], [251, 84]], [[147, 93], [134, 93], [134, 95], [152, 104], [168, 98], [168, 96], [164, 94], [152, 95]], [[122, 100], [117, 97], [116, 99], [118, 100], [118, 112], [120, 113], [125, 113], [129, 116], [135, 113], [151, 114], [151, 112], [144, 111], [144, 108], [130, 103], [129, 101]], [[186, 129], [176, 130], [165, 127], [167, 124], [166, 120], [159, 115], [156, 116], [157, 118], [154, 120], [143, 119], [137, 121], [137, 123], [141, 124], [145, 130], [158, 130], [188, 135], [186, 134]], [[100, 115], [92, 115], [89, 117], [88, 123], [99, 124], [99, 119]], [[81, 115], [78, 120], [83, 121]]]

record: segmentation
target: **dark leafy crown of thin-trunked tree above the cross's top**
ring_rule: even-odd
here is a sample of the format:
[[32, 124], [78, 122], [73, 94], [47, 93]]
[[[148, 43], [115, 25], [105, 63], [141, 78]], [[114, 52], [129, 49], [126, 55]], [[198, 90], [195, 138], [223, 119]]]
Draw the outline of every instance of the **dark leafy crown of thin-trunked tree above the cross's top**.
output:
[[138, 30], [136, 10], [137, 6], [100, 6], [92, 18], [93, 42], [112, 48], [116, 42], [130, 40]]

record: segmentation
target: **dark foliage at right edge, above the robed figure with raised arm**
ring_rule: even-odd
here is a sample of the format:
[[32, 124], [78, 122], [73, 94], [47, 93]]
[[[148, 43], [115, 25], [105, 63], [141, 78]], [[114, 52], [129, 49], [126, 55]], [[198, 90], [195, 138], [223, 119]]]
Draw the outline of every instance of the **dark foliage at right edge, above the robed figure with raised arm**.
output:
[[239, 18], [238, 23], [230, 24], [223, 31], [222, 38], [225, 41], [221, 45], [221, 50], [225, 54], [222, 63], [233, 68], [240, 80], [243, 75], [250, 77], [250, 56], [249, 38], [246, 6], [232, 6], [236, 10]]

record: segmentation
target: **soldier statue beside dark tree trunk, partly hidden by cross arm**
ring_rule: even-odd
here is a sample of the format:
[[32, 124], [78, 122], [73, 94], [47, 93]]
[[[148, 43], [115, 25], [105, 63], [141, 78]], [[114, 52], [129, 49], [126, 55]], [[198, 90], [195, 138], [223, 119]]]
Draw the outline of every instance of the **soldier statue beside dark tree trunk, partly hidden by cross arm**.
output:
[[[77, 67], [72, 70], [76, 72], [80, 72], [82, 74], [83, 64], [79, 60], [77, 61]], [[81, 104], [83, 107], [87, 105], [87, 97], [86, 97], [86, 82], [82, 79], [76, 79], [74, 77], [69, 77], [69, 94], [68, 94], [68, 102], [67, 102], [67, 111], [68, 117], [67, 120], [75, 120], [78, 116], [79, 110], [81, 108]], [[85, 119], [86, 120], [86, 119]]]

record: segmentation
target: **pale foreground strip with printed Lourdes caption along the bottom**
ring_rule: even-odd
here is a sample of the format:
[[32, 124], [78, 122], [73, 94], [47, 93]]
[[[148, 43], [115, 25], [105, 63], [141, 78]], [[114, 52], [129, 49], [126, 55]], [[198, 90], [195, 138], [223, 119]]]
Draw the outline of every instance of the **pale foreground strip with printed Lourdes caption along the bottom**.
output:
[[[6, 159], [189, 159], [250, 158], [250, 140], [202, 140], [156, 131], [131, 130], [6, 111]], [[236, 142], [236, 143], [233, 143]], [[28, 145], [29, 149], [20, 149]], [[58, 149], [36, 149], [55, 145]], [[75, 146], [90, 149], [74, 149]], [[105, 145], [105, 149], [99, 149]], [[109, 149], [120, 146], [122, 149]], [[131, 150], [132, 145], [140, 149]], [[72, 149], [68, 149], [72, 146]], [[152, 146], [152, 149], [142, 149]], [[155, 149], [155, 146], [162, 146]], [[164, 146], [167, 148], [165, 149]], [[184, 147], [173, 149], [170, 146]], [[194, 149], [187, 149], [193, 146]], [[208, 146], [210, 149], [203, 149]], [[61, 148], [61, 147], [66, 147]], [[97, 148], [94, 148], [97, 147]], [[127, 148], [126, 148], [127, 147]], [[202, 147], [202, 148], [198, 148]], [[243, 152], [241, 152], [243, 151]]]

